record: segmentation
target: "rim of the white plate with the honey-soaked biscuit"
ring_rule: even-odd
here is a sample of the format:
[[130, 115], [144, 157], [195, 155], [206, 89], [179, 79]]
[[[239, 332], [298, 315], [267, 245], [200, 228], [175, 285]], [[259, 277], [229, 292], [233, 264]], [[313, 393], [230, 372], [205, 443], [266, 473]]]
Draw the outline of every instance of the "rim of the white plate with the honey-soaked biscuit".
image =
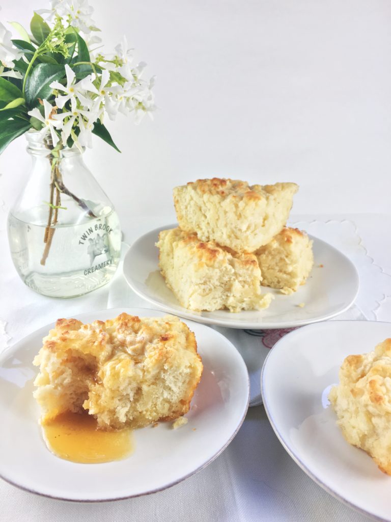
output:
[[[125, 313], [128, 313], [128, 312], [126, 312], [127, 310], [128, 311], [130, 311], [130, 310], [145, 310], [147, 312], [157, 312], [158, 314], [166, 314], [166, 312], [163, 311], [163, 310], [155, 310], [155, 309], [145, 308], [145, 307], [141, 307], [141, 306], [124, 306], [124, 307], [116, 307], [116, 308], [110, 308], [110, 309], [95, 310], [95, 311], [91, 311], [91, 312], [84, 312], [84, 313], [81, 313], [81, 314], [75, 314], [74, 316], [72, 316], [72, 318], [76, 318], [76, 319], [79, 318], [79, 320], [82, 321], [83, 320], [82, 319], [83, 316], [91, 315], [91, 314], [94, 314], [94, 313], [95, 314], [99, 314], [99, 313], [104, 313], [106, 311], [107, 312], [111, 312], [111, 311], [118, 311], [118, 310], [121, 310], [121, 311], [123, 311]], [[170, 314], [170, 315], [175, 315], [175, 314]], [[152, 317], [152, 315], [150, 315], [150, 316]], [[181, 318], [181, 317], [179, 316], [179, 318]], [[187, 319], [187, 321], [192, 322], [191, 319]], [[196, 321], [193, 321], [193, 322], [197, 323]], [[42, 331], [42, 330], [48, 331], [48, 329], [53, 327], [53, 325], [54, 325], [54, 323], [50, 323], [50, 324], [47, 324], [45, 326], [42, 326], [41, 328], [33, 330], [29, 334], [27, 334], [25, 337], [23, 337], [22, 339], [20, 339], [19, 341], [15, 342], [12, 346], [7, 347], [5, 350], [3, 350], [0, 353], [0, 367], [3, 364], [3, 361], [6, 358], [6, 355], [8, 355], [10, 352], [17, 352], [18, 349], [19, 349], [19, 345], [22, 345], [24, 342], [28, 341], [29, 337], [31, 337], [34, 334], [38, 335], [38, 333], [40, 331]], [[231, 345], [231, 347], [233, 348], [234, 353], [236, 353], [236, 355], [239, 358], [239, 361], [240, 361], [239, 364], [241, 364], [243, 369], [245, 370], [245, 372], [244, 372], [245, 376], [247, 376], [247, 379], [246, 379], [246, 381], [247, 381], [246, 406], [243, 409], [243, 413], [242, 413], [242, 415], [241, 415], [241, 417], [240, 417], [240, 419], [239, 419], [239, 421], [238, 421], [238, 423], [236, 425], [235, 430], [230, 435], [230, 437], [225, 442], [225, 444], [221, 448], [219, 448], [218, 451], [214, 455], [212, 455], [209, 459], [207, 459], [205, 462], [203, 462], [201, 464], [201, 466], [199, 466], [198, 468], [194, 469], [193, 471], [185, 474], [184, 476], [181, 476], [180, 478], [178, 478], [176, 480], [173, 480], [172, 482], [164, 484], [162, 487], [154, 488], [152, 490], [145, 491], [145, 492], [142, 492], [142, 493], [126, 495], [126, 496], [106, 497], [104, 499], [76, 499], [76, 498], [70, 499], [70, 498], [67, 498], [65, 496], [56, 496], [56, 495], [50, 495], [48, 493], [42, 493], [41, 491], [37, 491], [37, 490], [34, 490], [34, 489], [27, 488], [25, 485], [17, 484], [14, 481], [9, 480], [7, 477], [5, 477], [3, 475], [3, 473], [1, 471], [0, 471], [0, 478], [3, 479], [4, 481], [6, 481], [8, 484], [11, 484], [11, 485], [15, 486], [16, 488], [18, 488], [18, 489], [20, 489], [22, 491], [27, 491], [29, 493], [33, 493], [33, 494], [36, 494], [36, 495], [39, 495], [39, 496], [43, 496], [43, 497], [46, 497], [46, 498], [49, 498], [49, 499], [60, 500], [60, 501], [65, 501], [65, 502], [78, 502], [78, 503], [91, 504], [91, 503], [115, 502], [115, 501], [120, 501], [120, 500], [135, 499], [135, 498], [140, 497], [140, 496], [151, 495], [153, 493], [158, 493], [160, 491], [164, 491], [164, 490], [166, 490], [168, 488], [171, 488], [171, 487], [173, 487], [176, 484], [179, 484], [180, 482], [188, 479], [192, 475], [198, 473], [199, 471], [204, 469], [206, 466], [209, 466], [209, 464], [211, 464], [211, 462], [213, 462], [219, 455], [221, 455], [221, 453], [223, 453], [223, 451], [227, 448], [227, 446], [234, 440], [235, 436], [237, 435], [238, 431], [241, 428], [241, 425], [243, 424], [243, 422], [244, 422], [244, 420], [246, 418], [246, 415], [247, 415], [247, 412], [248, 412], [248, 409], [249, 409], [249, 402], [250, 402], [250, 377], [249, 377], [249, 373], [248, 373], [248, 370], [247, 370], [246, 363], [243, 360], [240, 352], [237, 350], [237, 348], [235, 347], [235, 345], [234, 345], [234, 343], [232, 341], [230, 341], [227, 337], [225, 337], [219, 331], [215, 330], [214, 328], [211, 328], [208, 325], [203, 325], [203, 324], [200, 324], [200, 323], [197, 323], [197, 325], [200, 325], [201, 327], [206, 327], [206, 328], [212, 330], [214, 332], [214, 334], [217, 335], [217, 337], [221, 337], [226, 342], [228, 342], [229, 345]]]

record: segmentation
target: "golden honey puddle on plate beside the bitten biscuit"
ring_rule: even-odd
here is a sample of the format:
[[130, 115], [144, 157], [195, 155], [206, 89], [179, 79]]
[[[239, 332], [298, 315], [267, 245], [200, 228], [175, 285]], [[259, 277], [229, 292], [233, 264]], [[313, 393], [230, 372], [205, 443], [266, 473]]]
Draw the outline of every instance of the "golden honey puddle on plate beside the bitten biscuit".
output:
[[47, 447], [57, 457], [96, 464], [121, 460], [133, 453], [132, 430], [97, 429], [96, 420], [85, 413], [66, 412], [42, 426]]

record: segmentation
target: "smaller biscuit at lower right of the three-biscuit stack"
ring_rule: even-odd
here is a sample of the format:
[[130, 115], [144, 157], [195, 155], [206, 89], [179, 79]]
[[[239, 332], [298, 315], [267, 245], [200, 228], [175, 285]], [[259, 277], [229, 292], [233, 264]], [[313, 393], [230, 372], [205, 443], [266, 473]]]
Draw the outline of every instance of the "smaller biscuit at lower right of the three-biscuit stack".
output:
[[296, 292], [308, 278], [314, 263], [312, 241], [306, 232], [284, 228], [270, 243], [255, 252], [262, 272], [262, 284]]

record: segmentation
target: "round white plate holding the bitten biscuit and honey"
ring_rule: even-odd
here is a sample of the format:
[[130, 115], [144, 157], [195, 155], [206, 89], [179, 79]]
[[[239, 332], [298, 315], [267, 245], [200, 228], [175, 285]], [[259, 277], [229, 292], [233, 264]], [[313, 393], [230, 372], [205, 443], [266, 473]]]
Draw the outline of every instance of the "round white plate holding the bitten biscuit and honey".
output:
[[[105, 320], [121, 312], [158, 316], [149, 309], [112, 309], [77, 316]], [[42, 337], [54, 325], [29, 335], [0, 358], [0, 477], [19, 488], [57, 499], [94, 502], [124, 499], [168, 488], [205, 467], [233, 439], [246, 415], [249, 379], [238, 351], [207, 326], [186, 321], [196, 335], [204, 371], [186, 417], [135, 430], [135, 451], [105, 464], [76, 464], [46, 448], [32, 397], [38, 369], [32, 365]]]

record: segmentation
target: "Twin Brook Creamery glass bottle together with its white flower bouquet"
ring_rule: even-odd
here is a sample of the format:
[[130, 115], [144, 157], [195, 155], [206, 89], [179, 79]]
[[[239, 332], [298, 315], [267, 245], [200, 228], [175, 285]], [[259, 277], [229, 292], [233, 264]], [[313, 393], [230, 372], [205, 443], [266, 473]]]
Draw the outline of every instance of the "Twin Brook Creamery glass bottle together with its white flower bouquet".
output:
[[[119, 221], [81, 152], [92, 134], [118, 150], [107, 118], [133, 112], [137, 123], [154, 109], [153, 80], [141, 78], [145, 64], [132, 63], [126, 38], [103, 54], [92, 14], [88, 0], [51, 0], [51, 9], [34, 13], [31, 34], [11, 22], [20, 35], [13, 39], [0, 23], [0, 153], [29, 131], [34, 157], [9, 212], [11, 256], [23, 281], [51, 296], [80, 295], [113, 276]], [[91, 266], [99, 256], [106, 258]]]

